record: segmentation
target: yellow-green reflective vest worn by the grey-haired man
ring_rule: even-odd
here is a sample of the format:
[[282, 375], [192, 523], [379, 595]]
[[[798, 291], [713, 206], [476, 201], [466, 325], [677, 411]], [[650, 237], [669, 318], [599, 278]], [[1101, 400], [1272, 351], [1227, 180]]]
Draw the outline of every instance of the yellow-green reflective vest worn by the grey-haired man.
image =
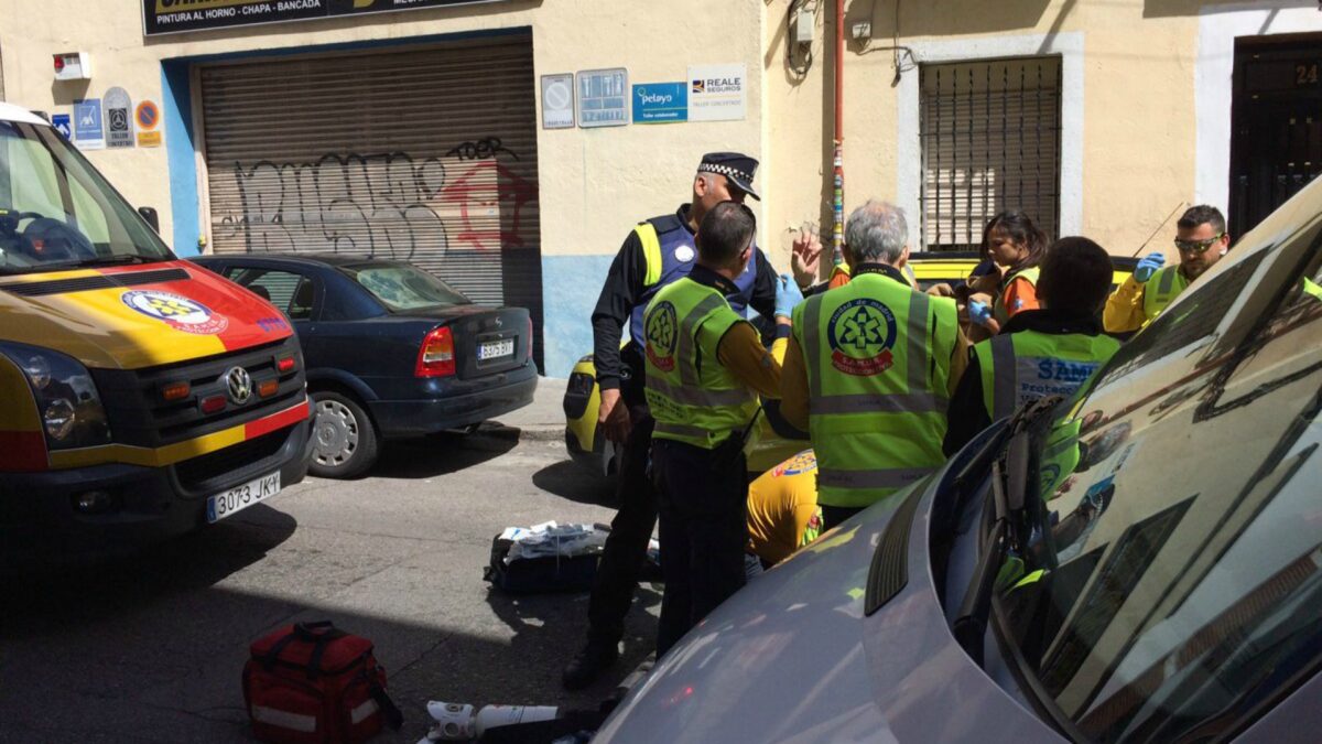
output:
[[796, 307], [793, 334], [808, 372], [818, 503], [867, 506], [945, 461], [953, 299], [855, 274]]

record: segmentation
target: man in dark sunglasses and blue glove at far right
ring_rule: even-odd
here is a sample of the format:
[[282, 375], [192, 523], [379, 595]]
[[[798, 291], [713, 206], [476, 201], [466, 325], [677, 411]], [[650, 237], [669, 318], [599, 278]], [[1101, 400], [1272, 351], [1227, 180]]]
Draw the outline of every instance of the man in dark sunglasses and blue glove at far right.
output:
[[1108, 334], [1137, 331], [1153, 322], [1194, 279], [1211, 269], [1229, 250], [1225, 217], [1220, 209], [1190, 207], [1175, 222], [1179, 263], [1162, 267], [1161, 253], [1145, 256], [1133, 275], [1107, 301], [1103, 323]]

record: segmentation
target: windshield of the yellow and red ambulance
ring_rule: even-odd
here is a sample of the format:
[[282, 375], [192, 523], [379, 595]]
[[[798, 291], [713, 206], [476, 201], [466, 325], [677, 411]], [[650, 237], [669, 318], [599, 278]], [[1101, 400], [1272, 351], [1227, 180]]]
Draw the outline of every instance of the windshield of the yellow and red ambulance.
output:
[[0, 120], [0, 275], [173, 258], [54, 130]]

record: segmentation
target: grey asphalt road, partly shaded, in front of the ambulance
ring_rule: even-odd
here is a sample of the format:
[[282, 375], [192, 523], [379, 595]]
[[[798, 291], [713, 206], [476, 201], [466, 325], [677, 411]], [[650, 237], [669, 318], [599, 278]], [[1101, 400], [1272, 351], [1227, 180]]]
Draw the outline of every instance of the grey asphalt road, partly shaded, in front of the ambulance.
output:
[[595, 707], [654, 639], [644, 585], [625, 655], [568, 694], [587, 594], [512, 597], [483, 581], [510, 524], [608, 522], [611, 485], [517, 429], [398, 443], [361, 481], [308, 479], [268, 504], [131, 559], [4, 579], [0, 740], [247, 741], [249, 643], [288, 622], [366, 635], [405, 727], [426, 702]]

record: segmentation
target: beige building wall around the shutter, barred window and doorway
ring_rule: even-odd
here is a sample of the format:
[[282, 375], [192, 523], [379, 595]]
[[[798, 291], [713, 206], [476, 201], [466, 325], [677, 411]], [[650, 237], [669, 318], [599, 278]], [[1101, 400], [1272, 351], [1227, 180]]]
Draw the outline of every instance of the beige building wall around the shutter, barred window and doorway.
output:
[[[558, 131], [538, 126], [542, 250], [611, 253], [636, 220], [685, 199], [702, 152], [744, 150], [763, 159], [761, 241], [784, 266], [792, 232], [805, 220], [820, 221], [829, 238], [833, 106], [833, 29], [824, 23], [833, 13], [832, 0], [808, 3], [816, 8], [817, 34], [813, 66], [801, 81], [784, 62], [788, 1], [512, 0], [144, 40], [137, 0], [0, 0], [0, 17], [8, 20], [0, 25], [0, 69], [9, 101], [66, 111], [73, 99], [100, 95], [114, 85], [135, 99], [160, 99], [161, 58], [494, 28], [531, 28], [538, 75], [625, 66], [631, 82], [664, 82], [683, 79], [689, 64], [742, 61], [750, 77], [742, 122]], [[1064, 154], [1077, 159], [1083, 173], [1075, 221], [1080, 232], [1113, 253], [1130, 254], [1181, 201], [1194, 200], [1195, 116], [1208, 114], [1195, 111], [1195, 66], [1199, 13], [1208, 4], [849, 0], [846, 28], [870, 13], [873, 46], [890, 44], [896, 1], [899, 44], [920, 49], [936, 41], [968, 42], [976, 57], [995, 54], [1007, 38], [1081, 38], [1081, 146]], [[90, 86], [53, 82], [50, 54], [59, 50], [91, 53]], [[917, 75], [914, 60], [902, 56], [902, 62], [906, 78]], [[895, 199], [902, 175], [912, 176], [919, 167], [896, 142], [906, 85], [892, 86], [894, 77], [891, 52], [849, 42], [846, 212], [871, 196]], [[131, 200], [157, 205], [163, 232], [171, 234], [164, 148], [90, 156]], [[911, 222], [916, 236], [916, 214]], [[1169, 241], [1158, 236], [1153, 245]]]

